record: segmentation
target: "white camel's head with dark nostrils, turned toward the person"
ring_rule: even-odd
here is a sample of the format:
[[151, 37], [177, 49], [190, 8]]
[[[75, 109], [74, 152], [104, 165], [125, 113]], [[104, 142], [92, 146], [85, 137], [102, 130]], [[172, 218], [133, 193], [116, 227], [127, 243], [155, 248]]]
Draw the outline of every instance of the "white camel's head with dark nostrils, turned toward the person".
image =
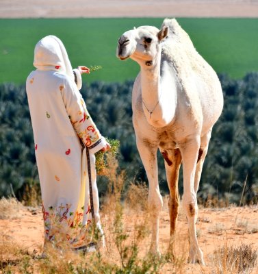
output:
[[159, 52], [159, 43], [168, 35], [168, 27], [142, 26], [131, 29], [118, 39], [116, 55], [120, 60], [131, 58], [140, 65], [151, 66]]

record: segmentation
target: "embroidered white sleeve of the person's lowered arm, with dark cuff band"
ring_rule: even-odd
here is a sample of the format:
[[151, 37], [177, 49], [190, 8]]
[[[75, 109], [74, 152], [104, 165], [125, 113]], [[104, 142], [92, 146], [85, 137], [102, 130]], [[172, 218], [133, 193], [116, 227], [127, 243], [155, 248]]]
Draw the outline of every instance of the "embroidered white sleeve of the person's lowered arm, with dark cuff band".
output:
[[90, 149], [90, 152], [96, 153], [105, 147], [106, 140], [101, 136], [99, 129], [92, 121], [86, 103], [74, 83], [67, 82], [64, 84], [62, 97], [75, 132], [77, 132], [86, 147]]

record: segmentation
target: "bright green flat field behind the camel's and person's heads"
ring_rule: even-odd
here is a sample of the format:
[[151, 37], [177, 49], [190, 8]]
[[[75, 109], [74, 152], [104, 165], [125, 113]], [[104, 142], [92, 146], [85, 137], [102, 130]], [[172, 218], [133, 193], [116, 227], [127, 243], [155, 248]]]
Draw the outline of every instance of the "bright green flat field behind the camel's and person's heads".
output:
[[[103, 67], [85, 81], [133, 79], [138, 65], [116, 58], [119, 36], [133, 27], [155, 25], [163, 18], [0, 19], [0, 83], [21, 84], [33, 70], [34, 47], [40, 38], [58, 36], [73, 67]], [[258, 71], [258, 18], [179, 18], [196, 49], [218, 73], [240, 78]]]

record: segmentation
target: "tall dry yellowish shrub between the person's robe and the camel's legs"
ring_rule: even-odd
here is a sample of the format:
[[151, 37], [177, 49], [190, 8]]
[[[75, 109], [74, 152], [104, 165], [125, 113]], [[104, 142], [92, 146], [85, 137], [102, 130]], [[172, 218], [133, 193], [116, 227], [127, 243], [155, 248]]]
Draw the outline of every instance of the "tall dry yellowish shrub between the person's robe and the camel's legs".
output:
[[[107, 162], [109, 186], [102, 208], [107, 249], [101, 258], [113, 271], [116, 269], [116, 273], [157, 273], [162, 260], [145, 253], [143, 247], [143, 240], [148, 240], [149, 236], [148, 212], [144, 212], [148, 193], [146, 186], [129, 186], [124, 195], [127, 207], [125, 214], [125, 206], [121, 203], [125, 173], [118, 171], [118, 162], [112, 155], [107, 156]], [[142, 249], [144, 253], [140, 252]]]

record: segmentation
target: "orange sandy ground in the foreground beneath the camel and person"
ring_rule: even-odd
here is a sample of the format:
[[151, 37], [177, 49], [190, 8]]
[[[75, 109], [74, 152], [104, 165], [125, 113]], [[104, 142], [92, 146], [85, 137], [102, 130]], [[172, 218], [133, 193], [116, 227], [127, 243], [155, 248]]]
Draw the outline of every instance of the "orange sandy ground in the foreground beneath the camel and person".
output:
[[[105, 216], [102, 216], [102, 219]], [[131, 223], [132, 216], [127, 214]], [[126, 221], [126, 220], [125, 220]], [[130, 223], [130, 222], [128, 222]], [[105, 224], [103, 224], [104, 230]], [[43, 245], [43, 221], [40, 209], [28, 210], [23, 208], [19, 214], [19, 219], [0, 220], [1, 234], [9, 238], [18, 245], [25, 247], [29, 253], [40, 253]], [[132, 232], [133, 227], [128, 231]], [[159, 225], [159, 245], [162, 253], [168, 248], [170, 231], [170, 221], [168, 208], [164, 207]], [[252, 245], [253, 249], [258, 249], [258, 206], [244, 208], [222, 208], [222, 209], [201, 209], [197, 223], [198, 241], [204, 253], [207, 266], [198, 264], [184, 263], [184, 272], [188, 273], [211, 273], [214, 269], [212, 256], [219, 247], [237, 247], [242, 244]], [[109, 238], [106, 235], [107, 240]], [[148, 240], [149, 241], [149, 240]], [[146, 249], [149, 248], [149, 242], [146, 242]], [[142, 249], [142, 252], [145, 252]], [[176, 253], [179, 257], [187, 256], [188, 253], [188, 226], [185, 214], [182, 210], [179, 213], [176, 236]], [[187, 258], [187, 257], [185, 257]], [[171, 273], [172, 264], [166, 264], [162, 273]], [[252, 274], [258, 273], [258, 268], [253, 269]]]

